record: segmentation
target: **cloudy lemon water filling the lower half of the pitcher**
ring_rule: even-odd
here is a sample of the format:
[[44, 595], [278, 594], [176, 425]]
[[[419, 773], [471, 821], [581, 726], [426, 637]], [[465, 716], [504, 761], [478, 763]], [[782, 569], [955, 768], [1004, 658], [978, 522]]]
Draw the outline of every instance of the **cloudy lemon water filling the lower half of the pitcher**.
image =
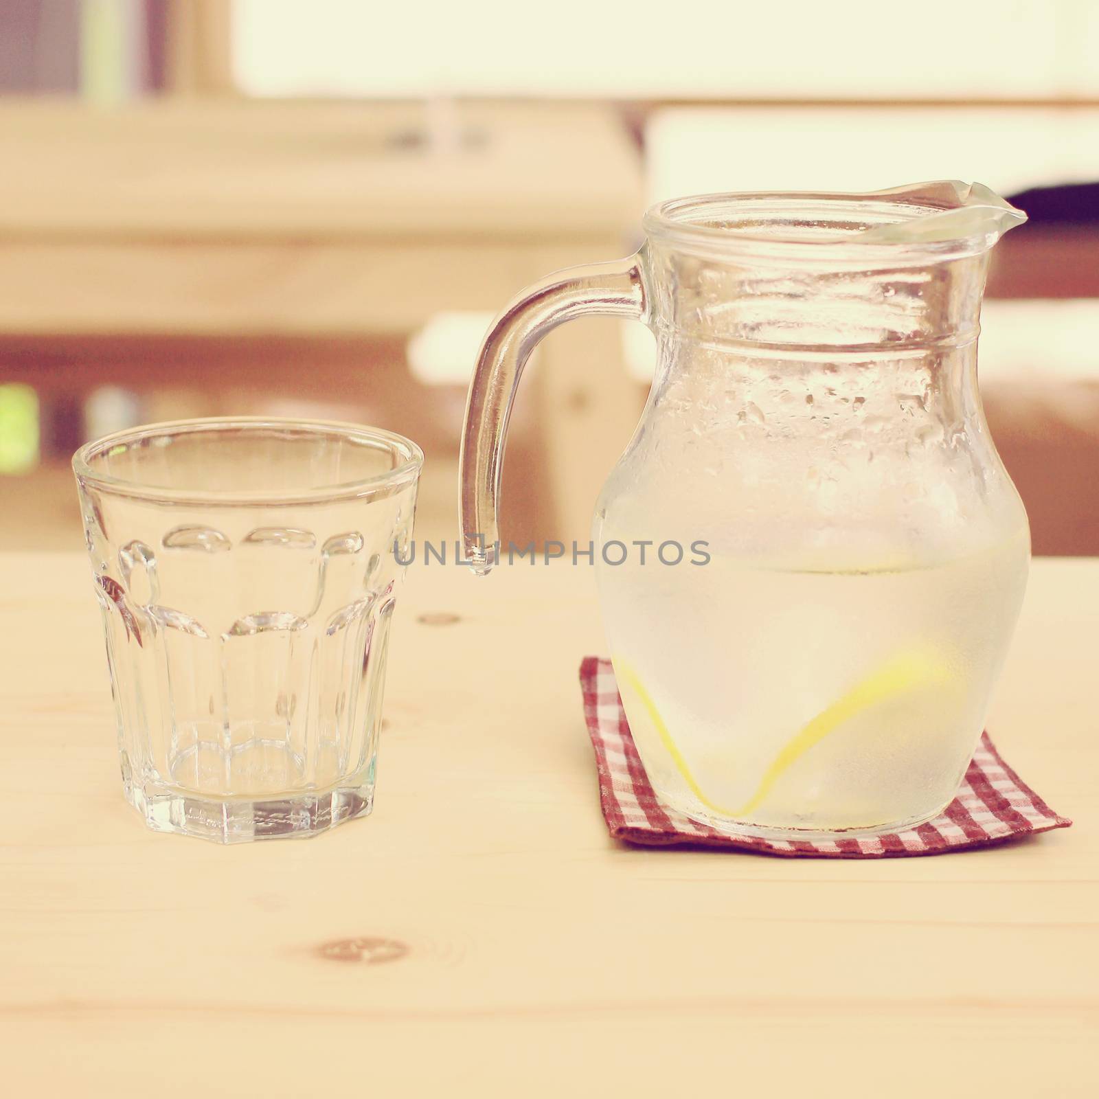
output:
[[1025, 526], [947, 559], [847, 556], [602, 567], [622, 700], [666, 802], [808, 835], [951, 800], [1022, 601]]

